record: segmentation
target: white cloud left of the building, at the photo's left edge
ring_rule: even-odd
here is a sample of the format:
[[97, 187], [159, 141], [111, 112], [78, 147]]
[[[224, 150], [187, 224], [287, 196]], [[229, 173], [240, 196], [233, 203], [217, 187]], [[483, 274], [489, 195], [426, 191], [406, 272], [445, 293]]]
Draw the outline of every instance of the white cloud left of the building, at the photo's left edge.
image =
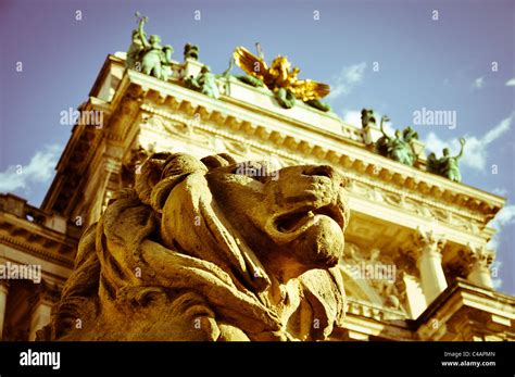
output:
[[16, 164], [0, 172], [0, 192], [27, 193], [33, 185], [47, 183], [52, 176], [62, 147], [47, 146], [34, 154], [28, 164]]

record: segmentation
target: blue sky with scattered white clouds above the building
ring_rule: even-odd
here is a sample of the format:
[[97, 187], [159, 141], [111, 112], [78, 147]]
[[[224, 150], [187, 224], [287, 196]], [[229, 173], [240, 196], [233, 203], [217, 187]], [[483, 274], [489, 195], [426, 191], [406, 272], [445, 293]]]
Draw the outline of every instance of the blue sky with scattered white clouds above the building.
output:
[[174, 46], [174, 59], [193, 42], [214, 72], [236, 46], [260, 41], [268, 60], [286, 54], [301, 76], [332, 86], [329, 101], [351, 123], [365, 106], [392, 127], [412, 125], [423, 108], [455, 112], [454, 129], [415, 128], [437, 154], [457, 152], [465, 136], [464, 184], [507, 198], [492, 246], [497, 284], [515, 293], [515, 2], [2, 0], [0, 191], [40, 203], [71, 133], [60, 112], [87, 99], [108, 53], [127, 49], [136, 10], [149, 16], [148, 33]]

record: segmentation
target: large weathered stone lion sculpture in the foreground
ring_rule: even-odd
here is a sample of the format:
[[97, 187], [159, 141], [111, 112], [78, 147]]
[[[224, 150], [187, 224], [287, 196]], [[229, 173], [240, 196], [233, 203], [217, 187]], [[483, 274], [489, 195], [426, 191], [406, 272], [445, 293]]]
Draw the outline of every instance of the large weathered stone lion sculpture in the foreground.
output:
[[227, 154], [150, 156], [84, 233], [40, 338], [323, 340], [341, 326], [344, 178], [238, 167]]

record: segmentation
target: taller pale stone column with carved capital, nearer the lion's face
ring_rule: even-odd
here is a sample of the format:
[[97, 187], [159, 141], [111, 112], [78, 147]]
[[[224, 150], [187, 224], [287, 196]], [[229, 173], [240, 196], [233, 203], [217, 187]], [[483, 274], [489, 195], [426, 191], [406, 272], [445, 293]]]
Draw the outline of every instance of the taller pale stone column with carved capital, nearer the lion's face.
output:
[[442, 268], [442, 250], [445, 241], [432, 230], [418, 229], [415, 237], [417, 266], [420, 272], [422, 289], [429, 305], [445, 288]]

